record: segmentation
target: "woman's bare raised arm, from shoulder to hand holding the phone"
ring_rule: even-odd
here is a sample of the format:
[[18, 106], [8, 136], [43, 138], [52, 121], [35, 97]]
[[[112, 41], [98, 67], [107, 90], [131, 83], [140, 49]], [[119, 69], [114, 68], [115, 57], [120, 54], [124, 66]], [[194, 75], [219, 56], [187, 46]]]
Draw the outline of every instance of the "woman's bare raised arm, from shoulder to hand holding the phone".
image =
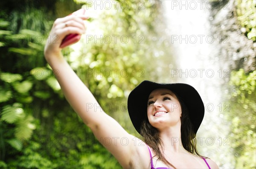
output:
[[[134, 136], [129, 135], [116, 120], [99, 109], [100, 105], [95, 97], [61, 54], [59, 46], [63, 38], [70, 33], [83, 34], [85, 19], [87, 17], [84, 15], [71, 15], [55, 20], [44, 55], [52, 69], [57, 70], [54, 71], [57, 73], [56, 79], [76, 113], [90, 127], [97, 139], [103, 140], [102, 145], [116, 157], [119, 163], [125, 168], [131, 168], [140, 157], [143, 157], [142, 154], [147, 148], [140, 144], [140, 140], [135, 140]], [[88, 109], [88, 104], [96, 106], [97, 109]]]

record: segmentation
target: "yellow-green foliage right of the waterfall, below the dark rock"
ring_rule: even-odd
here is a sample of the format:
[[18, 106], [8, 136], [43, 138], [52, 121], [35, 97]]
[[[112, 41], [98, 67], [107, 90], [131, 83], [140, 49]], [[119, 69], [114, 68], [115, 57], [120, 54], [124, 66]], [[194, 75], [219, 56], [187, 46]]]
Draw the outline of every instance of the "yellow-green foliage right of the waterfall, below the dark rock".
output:
[[245, 74], [243, 69], [233, 71], [229, 95], [231, 146], [234, 149], [236, 168], [256, 168], [256, 71]]

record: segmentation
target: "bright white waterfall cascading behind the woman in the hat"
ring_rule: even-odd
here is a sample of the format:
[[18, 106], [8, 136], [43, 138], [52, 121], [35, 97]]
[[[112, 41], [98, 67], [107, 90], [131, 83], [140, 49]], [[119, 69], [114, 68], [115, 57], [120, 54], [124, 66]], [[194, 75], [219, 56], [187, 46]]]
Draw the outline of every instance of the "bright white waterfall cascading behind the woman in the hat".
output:
[[[221, 43], [230, 43], [221, 34], [211, 33], [210, 1], [163, 0], [167, 35], [172, 44], [176, 68], [170, 69], [177, 83], [188, 83], [204, 101], [204, 120], [197, 133], [201, 155], [214, 160], [220, 168], [234, 168], [229, 126], [224, 121], [229, 105], [222, 100], [230, 76], [221, 56]], [[228, 6], [226, 6], [228, 9]]]

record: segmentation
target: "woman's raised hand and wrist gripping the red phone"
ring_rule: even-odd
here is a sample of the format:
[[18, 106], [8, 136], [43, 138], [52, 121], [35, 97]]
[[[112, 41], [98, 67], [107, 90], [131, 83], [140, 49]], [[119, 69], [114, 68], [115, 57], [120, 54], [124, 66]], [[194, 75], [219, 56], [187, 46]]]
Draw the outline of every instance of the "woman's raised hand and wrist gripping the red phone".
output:
[[72, 14], [67, 17], [58, 18], [53, 23], [52, 29], [44, 47], [44, 56], [47, 61], [50, 57], [61, 56], [61, 42], [68, 34], [84, 34], [84, 20], [87, 16]]

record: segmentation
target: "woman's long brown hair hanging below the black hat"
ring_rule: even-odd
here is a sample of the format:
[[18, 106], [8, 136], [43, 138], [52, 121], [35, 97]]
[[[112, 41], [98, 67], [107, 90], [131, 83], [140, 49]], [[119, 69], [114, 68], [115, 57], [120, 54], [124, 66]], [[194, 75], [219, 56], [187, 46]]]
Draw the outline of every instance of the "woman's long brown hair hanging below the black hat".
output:
[[[183, 100], [179, 98], [177, 95], [176, 97], [180, 102], [181, 111], [182, 111], [181, 117], [180, 117], [181, 118], [180, 132], [181, 132], [182, 145], [184, 149], [186, 149], [188, 152], [194, 155], [196, 154], [200, 157], [203, 157], [198, 154], [198, 151], [196, 149], [196, 138], [193, 130], [193, 125], [189, 118], [189, 111], [185, 103], [183, 102]], [[175, 166], [169, 163], [164, 157], [162, 153], [164, 152], [164, 145], [163, 145], [163, 141], [159, 137], [159, 131], [155, 127], [151, 126], [151, 124], [148, 121], [148, 117], [146, 115], [145, 115], [145, 120], [143, 120], [140, 128], [140, 135], [143, 136], [144, 142], [154, 150], [155, 156], [158, 157], [157, 160], [161, 160], [166, 165], [170, 165], [173, 168], [175, 168]]]

